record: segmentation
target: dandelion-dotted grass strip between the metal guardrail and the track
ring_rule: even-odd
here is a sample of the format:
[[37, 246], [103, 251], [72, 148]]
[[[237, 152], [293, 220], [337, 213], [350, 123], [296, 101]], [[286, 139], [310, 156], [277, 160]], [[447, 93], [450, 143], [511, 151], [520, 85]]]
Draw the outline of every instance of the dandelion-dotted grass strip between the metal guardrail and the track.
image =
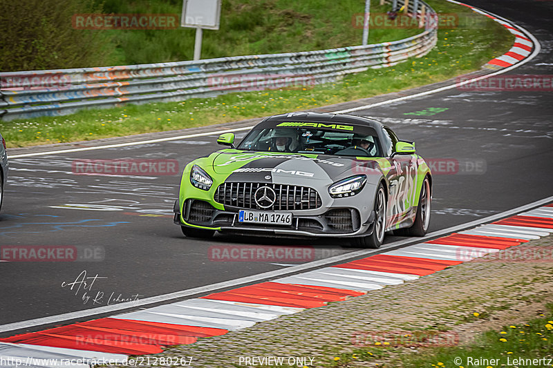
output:
[[[439, 12], [473, 14], [465, 6], [441, 0], [429, 3]], [[0, 131], [9, 147], [74, 142], [234, 122], [423, 86], [477, 70], [512, 46], [514, 37], [503, 26], [483, 16], [480, 24], [485, 29], [439, 30], [438, 44], [426, 57], [409, 59], [391, 68], [350, 75], [333, 84], [310, 89], [232, 93], [212, 99], [82, 110], [62, 117], [0, 122]]]

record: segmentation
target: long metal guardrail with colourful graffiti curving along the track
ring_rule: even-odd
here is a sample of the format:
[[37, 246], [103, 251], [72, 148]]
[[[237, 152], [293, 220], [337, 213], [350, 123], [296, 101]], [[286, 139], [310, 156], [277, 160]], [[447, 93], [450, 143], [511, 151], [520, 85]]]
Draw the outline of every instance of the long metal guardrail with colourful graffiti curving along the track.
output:
[[0, 119], [67, 115], [82, 108], [321, 84], [368, 68], [392, 66], [409, 57], [426, 55], [437, 41], [434, 10], [422, 0], [393, 3], [404, 1], [408, 1], [411, 16], [420, 19], [424, 32], [399, 41], [200, 61], [0, 72]]

